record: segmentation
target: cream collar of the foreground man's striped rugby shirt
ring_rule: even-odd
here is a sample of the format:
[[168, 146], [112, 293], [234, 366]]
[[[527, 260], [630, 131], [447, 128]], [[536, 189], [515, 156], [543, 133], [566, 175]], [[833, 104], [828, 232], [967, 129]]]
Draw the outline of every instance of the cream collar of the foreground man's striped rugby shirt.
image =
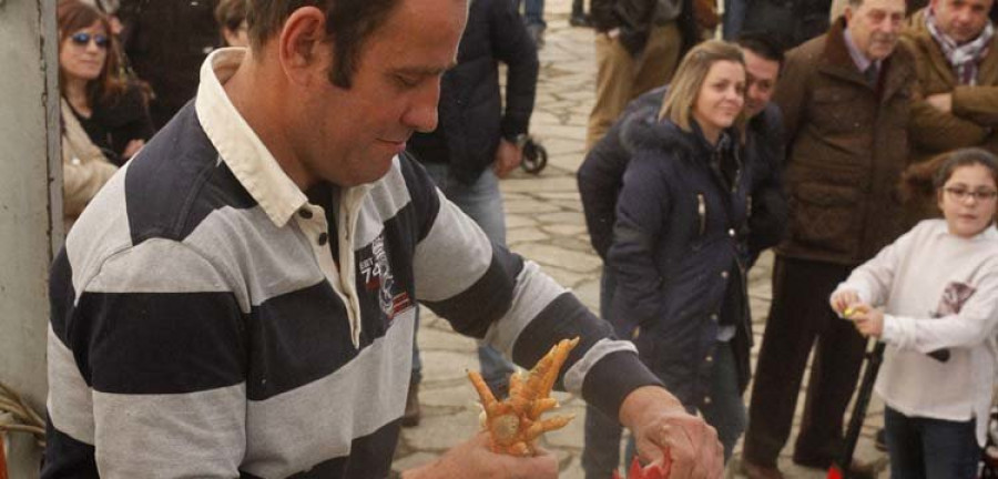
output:
[[308, 198], [240, 115], [222, 88], [246, 54], [246, 49], [225, 48], [213, 51], [204, 60], [194, 108], [222, 161], [274, 225], [283, 227]]

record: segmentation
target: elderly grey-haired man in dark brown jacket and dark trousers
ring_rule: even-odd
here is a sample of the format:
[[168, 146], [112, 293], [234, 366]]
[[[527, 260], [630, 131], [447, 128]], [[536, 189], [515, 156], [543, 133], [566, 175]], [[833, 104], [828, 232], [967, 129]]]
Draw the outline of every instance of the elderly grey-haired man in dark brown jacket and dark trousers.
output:
[[[819, 38], [791, 50], [774, 101], [787, 133], [791, 215], [752, 390], [744, 465], [781, 478], [807, 356], [817, 339], [794, 461], [827, 468], [865, 340], [828, 307], [849, 272], [903, 233], [896, 185], [908, 164], [913, 59], [896, 49], [904, 0], [851, 0]], [[855, 465], [856, 477], [865, 468]]]

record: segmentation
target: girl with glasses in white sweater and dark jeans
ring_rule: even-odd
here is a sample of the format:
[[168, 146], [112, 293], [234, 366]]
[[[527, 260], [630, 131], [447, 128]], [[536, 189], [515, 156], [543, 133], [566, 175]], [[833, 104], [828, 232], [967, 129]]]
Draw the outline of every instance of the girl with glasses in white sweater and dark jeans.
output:
[[998, 348], [998, 160], [936, 162], [943, 218], [926, 220], [853, 271], [829, 299], [887, 345], [876, 391], [893, 478], [975, 478]]

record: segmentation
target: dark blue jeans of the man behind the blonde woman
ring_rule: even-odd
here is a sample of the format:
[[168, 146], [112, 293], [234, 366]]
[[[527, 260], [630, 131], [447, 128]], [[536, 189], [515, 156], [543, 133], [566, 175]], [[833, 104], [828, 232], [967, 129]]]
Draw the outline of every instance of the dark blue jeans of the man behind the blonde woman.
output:
[[[603, 274], [600, 277], [600, 317], [604, 320], [610, 320], [610, 303], [613, 302], [614, 289], [617, 278], [613, 271], [603, 265]], [[614, 329], [619, 329], [615, 324]], [[630, 337], [620, 330], [617, 335], [621, 338]], [[585, 406], [582, 447], [582, 470], [585, 471], [585, 479], [607, 479], [617, 470], [620, 466], [620, 436], [621, 426], [615, 417], [609, 417], [592, 406]]]

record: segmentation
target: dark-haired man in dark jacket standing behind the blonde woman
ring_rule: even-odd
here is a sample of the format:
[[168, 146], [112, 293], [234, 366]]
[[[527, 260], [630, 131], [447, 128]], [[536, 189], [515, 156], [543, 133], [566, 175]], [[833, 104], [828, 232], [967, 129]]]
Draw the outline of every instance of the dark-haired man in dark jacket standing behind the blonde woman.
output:
[[[786, 206], [780, 184], [780, 167], [783, 162], [783, 122], [780, 110], [770, 103], [775, 90], [776, 78], [783, 61], [783, 53], [765, 37], [743, 35], [739, 39], [745, 55], [745, 113], [748, 121], [746, 144], [758, 149], [767, 170], [757, 175], [753, 188], [755, 205], [748, 224], [750, 255], [775, 245], [783, 234]], [[618, 193], [623, 184], [623, 175], [631, 159], [631, 147], [623, 139], [623, 124], [639, 112], [658, 112], [661, 109], [668, 86], [654, 89], [628, 105], [621, 121], [597, 143], [579, 169], [579, 192], [585, 213], [593, 248], [603, 261], [610, 248], [615, 222]], [[750, 262], [751, 263], [751, 262]], [[610, 320], [620, 337], [631, 337], [633, 325], [623, 318], [612, 318], [610, 304], [617, 281], [609, 267], [603, 268], [600, 281], [600, 316]], [[744, 358], [747, 365], [747, 358]], [[747, 367], [746, 367], [747, 373]], [[745, 377], [747, 381], [747, 376]], [[607, 478], [620, 463], [620, 425], [594, 408], [585, 410], [585, 444], [582, 450], [582, 468], [587, 478]]]

